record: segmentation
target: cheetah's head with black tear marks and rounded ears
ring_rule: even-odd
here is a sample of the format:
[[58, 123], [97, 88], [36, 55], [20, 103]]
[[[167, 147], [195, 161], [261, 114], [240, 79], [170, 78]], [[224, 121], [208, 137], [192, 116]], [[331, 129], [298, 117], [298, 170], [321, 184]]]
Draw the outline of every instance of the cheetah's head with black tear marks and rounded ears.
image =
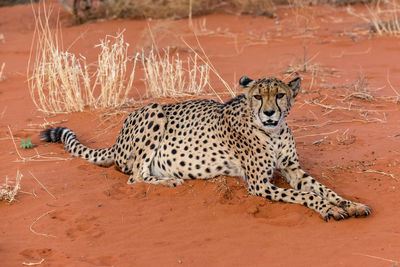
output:
[[258, 81], [243, 76], [239, 84], [243, 87], [255, 123], [271, 131], [285, 120], [300, 89], [300, 78], [284, 83], [275, 78]]

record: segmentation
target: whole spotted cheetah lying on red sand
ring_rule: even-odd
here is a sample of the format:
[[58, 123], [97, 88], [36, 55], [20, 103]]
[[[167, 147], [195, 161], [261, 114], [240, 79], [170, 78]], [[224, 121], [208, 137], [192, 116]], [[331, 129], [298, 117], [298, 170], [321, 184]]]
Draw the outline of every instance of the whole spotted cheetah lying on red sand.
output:
[[[367, 205], [346, 200], [301, 169], [286, 118], [300, 90], [300, 78], [239, 80], [244, 94], [226, 103], [191, 100], [150, 104], [131, 113], [116, 144], [91, 149], [73, 131], [56, 127], [40, 138], [64, 143], [75, 157], [129, 174], [128, 184], [178, 186], [186, 179], [220, 175], [243, 178], [250, 195], [302, 204], [325, 221], [370, 214]], [[272, 184], [274, 170], [292, 188]]]

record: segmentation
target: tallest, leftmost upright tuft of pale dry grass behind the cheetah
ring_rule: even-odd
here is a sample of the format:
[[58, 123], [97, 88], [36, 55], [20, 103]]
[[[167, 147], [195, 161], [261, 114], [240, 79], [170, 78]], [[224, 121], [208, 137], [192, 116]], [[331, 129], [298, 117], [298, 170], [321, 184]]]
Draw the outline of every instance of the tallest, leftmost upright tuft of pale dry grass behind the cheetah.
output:
[[78, 58], [62, 51], [59, 46], [59, 25], [56, 25], [56, 31], [53, 32], [49, 25], [50, 15], [51, 10], [46, 11], [46, 8], [43, 8], [43, 15], [40, 9], [34, 14], [35, 32], [31, 56], [33, 50], [36, 56], [31, 76], [32, 58], [27, 70], [32, 100], [44, 113], [83, 111], [85, 103], [93, 101], [86, 63], [83, 57]]

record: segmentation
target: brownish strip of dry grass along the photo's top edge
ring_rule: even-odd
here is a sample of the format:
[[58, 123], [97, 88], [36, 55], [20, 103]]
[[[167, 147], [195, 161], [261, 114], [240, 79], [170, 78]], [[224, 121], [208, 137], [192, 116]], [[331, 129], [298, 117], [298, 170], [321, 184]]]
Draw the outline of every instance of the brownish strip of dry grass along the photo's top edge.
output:
[[[59, 0], [61, 2], [66, 2]], [[182, 19], [212, 12], [252, 14], [275, 17], [275, 3], [286, 0], [104, 0], [93, 2], [88, 11], [78, 12], [75, 21], [84, 22], [99, 18]], [[65, 6], [69, 11], [71, 6]]]

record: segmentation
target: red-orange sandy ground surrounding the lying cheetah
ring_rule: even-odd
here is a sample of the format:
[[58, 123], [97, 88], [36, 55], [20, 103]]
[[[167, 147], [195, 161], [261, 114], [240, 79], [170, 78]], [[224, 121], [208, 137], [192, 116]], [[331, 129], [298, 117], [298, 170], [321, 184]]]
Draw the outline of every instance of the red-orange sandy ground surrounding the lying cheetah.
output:
[[[366, 14], [361, 7], [356, 12]], [[301, 164], [339, 194], [372, 208], [367, 218], [326, 223], [303, 206], [247, 196], [237, 178], [188, 181], [177, 188], [130, 186], [112, 167], [71, 159], [62, 145], [41, 143], [39, 125], [47, 121], [73, 129], [91, 147], [109, 146], [126, 115], [106, 120], [90, 111], [57, 116], [37, 111], [26, 82], [33, 21], [30, 6], [0, 8], [0, 64], [6, 63], [0, 82], [0, 178], [20, 170], [25, 192], [12, 205], [0, 203], [1, 266], [42, 259], [40, 266], [400, 264], [400, 115], [391, 88], [400, 91], [398, 38], [371, 36], [363, 21], [333, 7], [280, 9], [275, 21], [218, 14], [193, 21], [207, 55], [230, 84], [242, 75], [284, 79], [306, 51], [302, 93], [289, 117]], [[159, 48], [174, 46], [185, 55], [183, 38], [199, 51], [187, 20], [71, 26], [61, 13], [61, 22], [64, 47], [74, 43], [70, 50], [89, 62], [96, 59], [99, 39], [122, 29], [132, 54], [151, 46], [149, 28]], [[215, 77], [213, 85], [226, 91]], [[137, 79], [135, 87], [132, 97], [143, 98], [143, 82]], [[373, 99], [358, 99], [356, 92]], [[51, 157], [64, 160], [21, 162], [8, 126], [17, 145], [30, 136], [40, 155], [53, 152]], [[29, 159], [36, 152], [19, 153]], [[279, 176], [276, 183], [287, 186]]]

